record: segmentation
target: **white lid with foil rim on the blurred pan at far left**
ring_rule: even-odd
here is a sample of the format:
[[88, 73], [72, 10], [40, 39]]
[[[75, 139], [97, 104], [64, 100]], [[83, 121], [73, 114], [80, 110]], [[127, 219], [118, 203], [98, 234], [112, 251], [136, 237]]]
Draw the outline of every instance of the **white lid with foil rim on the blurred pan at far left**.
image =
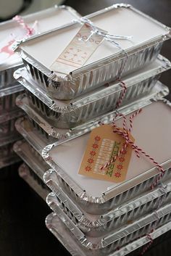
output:
[[[72, 7], [55, 5], [54, 7], [45, 9], [43, 11], [25, 15], [22, 18], [27, 25], [30, 25], [30, 28], [34, 28], [36, 35], [40, 35], [45, 31], [57, 28], [58, 26], [60, 27], [68, 22], [72, 22], [73, 19], [77, 19], [79, 17], [80, 15], [78, 12], [76, 12]], [[36, 23], [34, 24], [34, 22]], [[14, 20], [1, 22], [0, 30], [0, 48], [1, 46], [4, 47], [4, 55], [6, 56], [9, 54], [9, 52], [5, 46], [12, 41], [13, 37], [18, 40], [19, 38], [25, 36], [25, 30], [22, 29], [22, 26], [20, 26]], [[19, 38], [17, 38], [18, 36]], [[34, 34], [30, 37], [32, 36], [34, 36]], [[22, 65], [22, 59], [20, 59], [17, 54], [14, 54], [14, 56], [9, 56], [3, 60], [0, 65], [0, 72], [20, 65]]]

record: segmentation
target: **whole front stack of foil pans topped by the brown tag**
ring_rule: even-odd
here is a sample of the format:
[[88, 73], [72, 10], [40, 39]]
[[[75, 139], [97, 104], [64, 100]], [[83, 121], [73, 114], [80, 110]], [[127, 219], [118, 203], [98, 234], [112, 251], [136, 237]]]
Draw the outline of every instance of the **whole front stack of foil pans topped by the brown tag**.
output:
[[[153, 120], [148, 120], [148, 124], [145, 124], [144, 127], [139, 120], [138, 129], [140, 125], [142, 128], [148, 125], [148, 131], [151, 135], [153, 122], [156, 123], [157, 120], [160, 120], [161, 125], [163, 125], [165, 121], [170, 120], [170, 106], [170, 102], [160, 100], [144, 107], [143, 122], [147, 115], [149, 116], [152, 112], [155, 114]], [[164, 111], [165, 115], [162, 117]], [[153, 141], [155, 136], [157, 138], [160, 136], [166, 143], [164, 147], [169, 149], [171, 142], [169, 140], [170, 121], [167, 122], [167, 125], [163, 129], [164, 135], [161, 134], [161, 128], [156, 128], [156, 135], [151, 135], [151, 140]], [[160, 133], [158, 129], [160, 129]], [[133, 132], [136, 133], [136, 131], [138, 130], [134, 126]], [[139, 135], [137, 134], [137, 136]], [[86, 135], [82, 137], [84, 137], [83, 141], [87, 140]], [[135, 139], [140, 138], [135, 137]], [[46, 146], [42, 153], [44, 160], [54, 169], [47, 171], [43, 176], [46, 184], [54, 192], [47, 197], [47, 203], [57, 214], [57, 218], [72, 232], [80, 250], [83, 251], [80, 255], [84, 255], [84, 252], [85, 255], [112, 255], [118, 248], [124, 248], [125, 245], [135, 239], [150, 234], [152, 230], [156, 231], [157, 228], [170, 221], [170, 153], [166, 154], [162, 141], [158, 141], [160, 150], [157, 157], [163, 152], [159, 164], [164, 169], [164, 176], [160, 180], [162, 181], [160, 186], [151, 190], [151, 184], [160, 175], [157, 168], [144, 170], [141, 175], [136, 174], [138, 172], [136, 170], [134, 178], [120, 183], [119, 186], [112, 186], [112, 183], [107, 184], [104, 181], [90, 178], [86, 182], [85, 177], [76, 176], [78, 170], [73, 173], [73, 168], [77, 166], [77, 163], [74, 162], [80, 162], [79, 157], [82, 155], [82, 150], [84, 151], [81, 140], [78, 137], [56, 142]], [[153, 143], [152, 141], [151, 143]], [[141, 144], [141, 139], [137, 143]], [[65, 145], [72, 148], [72, 153], [69, 153]], [[143, 146], [146, 145], [145, 143]], [[76, 146], [77, 149], [75, 150]], [[47, 154], [47, 152], [49, 153]], [[150, 154], [152, 152], [151, 149]], [[70, 164], [70, 170], [67, 171], [64, 166], [71, 162], [70, 156], [73, 162]], [[141, 165], [143, 168], [143, 162]], [[133, 172], [133, 165], [130, 166], [130, 169]], [[108, 191], [101, 189], [105, 186], [109, 186]], [[98, 194], [101, 196], [98, 197]], [[97, 215], [97, 212], [101, 215]]]

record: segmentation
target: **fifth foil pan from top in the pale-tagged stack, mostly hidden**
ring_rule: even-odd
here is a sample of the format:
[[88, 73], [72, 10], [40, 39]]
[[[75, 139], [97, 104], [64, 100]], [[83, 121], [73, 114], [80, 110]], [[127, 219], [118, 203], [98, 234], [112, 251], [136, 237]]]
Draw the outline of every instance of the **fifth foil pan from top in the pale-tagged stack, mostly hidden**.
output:
[[[14, 152], [29, 166], [29, 168], [36, 173], [35, 176], [38, 176], [38, 180], [43, 180], [43, 174], [46, 170], [49, 170], [49, 165], [47, 165], [43, 160], [41, 154], [36, 152], [36, 150], [33, 149], [33, 147], [26, 141], [15, 142], [13, 149]], [[46, 185], [44, 184], [44, 186]]]

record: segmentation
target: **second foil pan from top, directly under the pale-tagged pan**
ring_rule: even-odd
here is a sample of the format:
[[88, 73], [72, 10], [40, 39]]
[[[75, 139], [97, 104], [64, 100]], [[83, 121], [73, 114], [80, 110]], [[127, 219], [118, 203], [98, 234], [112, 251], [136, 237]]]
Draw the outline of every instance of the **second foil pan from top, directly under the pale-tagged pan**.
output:
[[[122, 105], [148, 95], [161, 73], [170, 67], [171, 63], [159, 55], [151, 65], [126, 76], [123, 81], [127, 86], [127, 92]], [[122, 94], [120, 83], [111, 83], [108, 87], [103, 86], [75, 100], [64, 102], [50, 98], [45, 91], [32, 85], [24, 69], [17, 70], [14, 78], [25, 87], [30, 106], [49, 120], [55, 128], [73, 128], [114, 110]]]

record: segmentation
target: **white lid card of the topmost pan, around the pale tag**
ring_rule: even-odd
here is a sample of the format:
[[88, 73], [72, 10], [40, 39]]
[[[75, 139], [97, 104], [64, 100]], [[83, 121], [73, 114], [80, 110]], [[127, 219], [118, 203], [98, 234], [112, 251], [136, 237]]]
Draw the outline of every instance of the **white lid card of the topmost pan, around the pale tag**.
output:
[[[129, 49], [132, 46], [168, 33], [168, 30], [162, 27], [162, 25], [147, 17], [143, 17], [130, 8], [112, 9], [104, 14], [92, 17], [91, 21], [96, 27], [112, 35], [133, 36], [131, 41], [116, 40], [122, 46], [122, 49]], [[42, 65], [50, 68], [54, 60], [59, 57], [72, 38], [78, 33], [80, 26], [80, 24], [72, 25], [72, 27], [64, 28], [51, 35], [25, 42], [22, 45], [22, 49]], [[85, 65], [96, 62], [104, 57], [109, 57], [118, 51], [120, 50], [116, 46], [104, 40]]]

